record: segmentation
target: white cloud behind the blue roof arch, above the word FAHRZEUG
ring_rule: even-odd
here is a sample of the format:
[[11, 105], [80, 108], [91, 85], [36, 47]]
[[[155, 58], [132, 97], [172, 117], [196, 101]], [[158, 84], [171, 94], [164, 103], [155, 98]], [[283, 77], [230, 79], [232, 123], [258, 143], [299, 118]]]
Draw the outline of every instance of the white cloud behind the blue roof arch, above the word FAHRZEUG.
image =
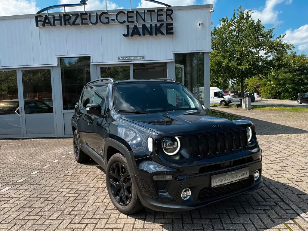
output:
[[[71, 4], [78, 3], [76, 0], [60, 0], [59, 4]], [[118, 6], [116, 3], [107, 0], [107, 10], [122, 9], [123, 7]], [[66, 11], [83, 11], [83, 6], [67, 7]], [[104, 0], [91, 0], [87, 2], [86, 10], [106, 10]], [[63, 10], [61, 10], [63, 11]]]

